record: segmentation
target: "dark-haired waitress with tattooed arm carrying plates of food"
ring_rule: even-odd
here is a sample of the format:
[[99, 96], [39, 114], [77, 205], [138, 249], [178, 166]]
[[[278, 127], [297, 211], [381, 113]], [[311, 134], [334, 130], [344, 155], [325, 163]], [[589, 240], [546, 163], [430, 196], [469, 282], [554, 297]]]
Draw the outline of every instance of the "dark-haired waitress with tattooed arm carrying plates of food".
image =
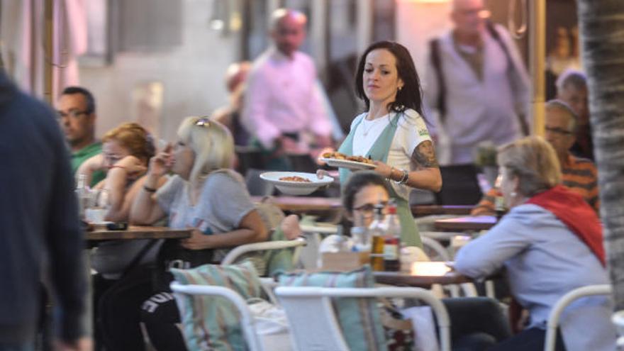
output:
[[[423, 118], [420, 79], [412, 57], [399, 43], [380, 41], [367, 48], [357, 66], [357, 96], [367, 112], [356, 116], [339, 152], [374, 160], [375, 171], [387, 179], [401, 221], [401, 242], [421, 247], [409, 208], [412, 188], [440, 191], [442, 176]], [[340, 168], [340, 183], [350, 171]]]

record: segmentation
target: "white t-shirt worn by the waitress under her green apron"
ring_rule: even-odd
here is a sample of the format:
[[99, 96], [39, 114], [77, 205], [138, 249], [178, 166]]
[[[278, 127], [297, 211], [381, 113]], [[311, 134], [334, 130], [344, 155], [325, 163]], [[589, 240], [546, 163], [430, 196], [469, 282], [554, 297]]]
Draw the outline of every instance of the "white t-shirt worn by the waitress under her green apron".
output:
[[[364, 121], [357, 126], [353, 135], [353, 155], [366, 155], [395, 115], [395, 112], [391, 112], [386, 116], [376, 118], [374, 121], [366, 121], [364, 119], [367, 113], [362, 113], [355, 117], [351, 123], [351, 128], [354, 128], [362, 119]], [[394, 168], [408, 169], [410, 171], [416, 170], [416, 165], [411, 162], [411, 156], [420, 143], [423, 143], [425, 140], [431, 140], [429, 130], [423, 117], [412, 109], [407, 109], [401, 113], [398, 124], [390, 151], [388, 152], [386, 164]], [[396, 194], [403, 199], [409, 198], [411, 191], [409, 186], [394, 182], [390, 184], [392, 184]]]

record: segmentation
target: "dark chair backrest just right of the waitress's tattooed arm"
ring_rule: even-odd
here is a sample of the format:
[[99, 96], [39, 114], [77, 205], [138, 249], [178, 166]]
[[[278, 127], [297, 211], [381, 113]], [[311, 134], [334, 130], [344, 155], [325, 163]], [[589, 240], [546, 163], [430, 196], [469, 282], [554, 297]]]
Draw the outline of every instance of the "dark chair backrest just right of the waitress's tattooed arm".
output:
[[441, 166], [442, 190], [435, 194], [438, 205], [474, 205], [481, 200], [481, 188], [474, 165]]

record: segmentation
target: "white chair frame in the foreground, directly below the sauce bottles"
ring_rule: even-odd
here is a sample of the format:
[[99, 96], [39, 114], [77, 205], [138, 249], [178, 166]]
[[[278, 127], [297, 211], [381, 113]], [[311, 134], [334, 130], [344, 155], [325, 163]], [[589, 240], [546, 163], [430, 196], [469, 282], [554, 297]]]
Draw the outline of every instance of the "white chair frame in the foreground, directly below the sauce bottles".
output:
[[278, 286], [275, 294], [286, 311], [295, 350], [349, 350], [332, 308], [333, 297], [403, 297], [424, 301], [433, 308], [438, 320], [441, 350], [450, 350], [450, 319], [446, 308], [425, 289]]

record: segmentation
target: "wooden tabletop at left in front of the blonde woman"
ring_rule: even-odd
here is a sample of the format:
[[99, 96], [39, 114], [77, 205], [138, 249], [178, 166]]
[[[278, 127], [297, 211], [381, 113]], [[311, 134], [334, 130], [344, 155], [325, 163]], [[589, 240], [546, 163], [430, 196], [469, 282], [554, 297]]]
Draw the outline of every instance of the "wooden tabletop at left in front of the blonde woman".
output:
[[191, 237], [190, 229], [130, 225], [126, 230], [98, 229], [86, 232], [87, 240], [184, 239]]

